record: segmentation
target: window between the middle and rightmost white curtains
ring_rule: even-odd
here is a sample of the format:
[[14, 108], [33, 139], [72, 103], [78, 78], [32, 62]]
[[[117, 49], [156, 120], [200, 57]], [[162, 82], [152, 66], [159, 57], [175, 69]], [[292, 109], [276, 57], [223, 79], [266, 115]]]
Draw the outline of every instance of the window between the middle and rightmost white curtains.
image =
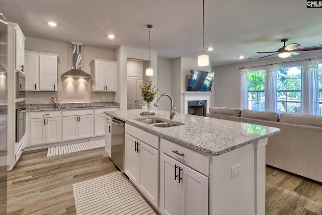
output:
[[301, 107], [301, 66], [277, 69], [277, 112], [299, 112]]

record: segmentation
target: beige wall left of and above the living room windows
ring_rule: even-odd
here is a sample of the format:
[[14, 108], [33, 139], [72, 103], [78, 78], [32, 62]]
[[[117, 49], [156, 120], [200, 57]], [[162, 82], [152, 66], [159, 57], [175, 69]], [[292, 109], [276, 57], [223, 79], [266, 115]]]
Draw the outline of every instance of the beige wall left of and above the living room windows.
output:
[[[215, 66], [214, 72], [214, 106], [240, 108], [240, 74], [239, 67], [257, 66], [286, 61], [322, 57], [322, 50], [300, 52], [288, 58], [270, 57], [243, 63]], [[319, 59], [321, 62], [321, 59]]]

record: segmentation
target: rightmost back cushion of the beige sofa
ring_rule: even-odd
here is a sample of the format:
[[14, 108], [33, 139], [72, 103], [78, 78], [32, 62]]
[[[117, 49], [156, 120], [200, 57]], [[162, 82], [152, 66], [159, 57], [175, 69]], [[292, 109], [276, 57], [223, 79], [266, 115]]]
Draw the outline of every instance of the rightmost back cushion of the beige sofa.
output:
[[322, 127], [322, 116], [310, 116], [310, 115], [297, 115], [282, 113], [280, 115], [280, 122], [296, 124], [296, 125], [307, 125]]

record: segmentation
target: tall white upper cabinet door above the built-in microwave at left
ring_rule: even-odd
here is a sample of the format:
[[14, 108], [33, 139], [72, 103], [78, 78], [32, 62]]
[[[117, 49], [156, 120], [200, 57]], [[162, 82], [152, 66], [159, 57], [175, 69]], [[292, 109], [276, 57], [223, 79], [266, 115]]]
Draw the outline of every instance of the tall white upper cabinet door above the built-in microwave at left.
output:
[[16, 70], [24, 73], [26, 37], [22, 33], [18, 24], [16, 25], [15, 30], [16, 30]]

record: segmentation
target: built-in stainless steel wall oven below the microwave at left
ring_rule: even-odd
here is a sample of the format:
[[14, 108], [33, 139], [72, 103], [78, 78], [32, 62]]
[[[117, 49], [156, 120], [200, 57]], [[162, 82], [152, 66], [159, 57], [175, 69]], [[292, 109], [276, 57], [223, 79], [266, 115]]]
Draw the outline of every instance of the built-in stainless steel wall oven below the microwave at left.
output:
[[26, 133], [26, 101], [16, 102], [16, 142]]

